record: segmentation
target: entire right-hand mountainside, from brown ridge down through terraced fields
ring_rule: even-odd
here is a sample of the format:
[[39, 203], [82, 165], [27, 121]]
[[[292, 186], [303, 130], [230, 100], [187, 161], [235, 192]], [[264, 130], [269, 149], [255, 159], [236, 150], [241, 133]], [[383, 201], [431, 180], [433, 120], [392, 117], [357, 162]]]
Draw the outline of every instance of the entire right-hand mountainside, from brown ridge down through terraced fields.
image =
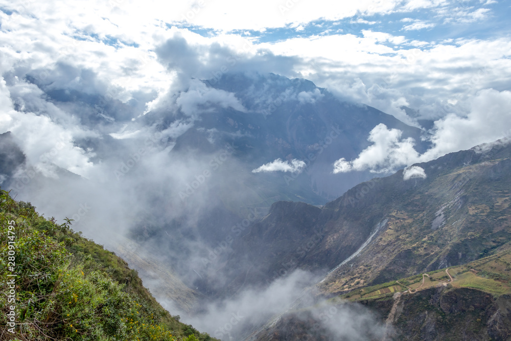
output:
[[[413, 169], [408, 168], [376, 178], [320, 211], [277, 202], [252, 226], [242, 246], [233, 247], [255, 248], [261, 255], [250, 253], [259, 267], [245, 276], [263, 283], [290, 259], [293, 268], [331, 269], [315, 286], [317, 302], [331, 302], [322, 314], [315, 313], [317, 305], [295, 303], [248, 339], [328, 335], [324, 311], [340, 311], [344, 300], [363, 304], [375, 326], [379, 321], [380, 328], [365, 339], [511, 337], [511, 144], [499, 140], [413, 167], [426, 177], [404, 177]], [[279, 207], [287, 207], [287, 214]], [[307, 213], [294, 227], [293, 219]], [[288, 237], [293, 230], [308, 231], [309, 239], [294, 243]], [[280, 246], [278, 258], [265, 246], [265, 235]], [[231, 255], [225, 267], [239, 258]]]

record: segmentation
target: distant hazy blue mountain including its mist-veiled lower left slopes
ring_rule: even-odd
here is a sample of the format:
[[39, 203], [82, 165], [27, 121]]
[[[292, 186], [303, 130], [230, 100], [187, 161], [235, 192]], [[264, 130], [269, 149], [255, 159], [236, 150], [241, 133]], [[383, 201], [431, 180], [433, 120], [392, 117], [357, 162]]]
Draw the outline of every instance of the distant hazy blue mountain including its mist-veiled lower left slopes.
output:
[[[213, 95], [226, 94], [239, 100], [237, 109], [212, 103]], [[369, 171], [332, 174], [332, 170], [340, 157], [351, 159], [370, 145], [367, 137], [376, 125], [383, 123], [388, 128], [400, 129], [403, 137], [414, 139], [417, 150], [424, 151], [429, 146], [422, 139], [425, 132], [421, 129], [407, 126], [375, 108], [342, 102], [304, 79], [229, 73], [214, 84], [196, 80], [179, 95], [178, 102], [188, 103], [184, 100], [189, 97], [201, 98], [203, 106], [193, 110], [184, 105], [177, 111], [155, 109], [138, 122], [153, 125], [164, 134], [176, 122], [194, 120], [193, 127], [166, 142], [172, 146], [171, 160], [182, 160], [191, 167], [183, 175], [188, 180], [175, 186], [174, 193], [170, 190], [165, 195], [156, 195], [158, 189], [150, 192], [150, 200], [155, 204], [148, 209], [147, 216], [153, 217], [149, 220], [154, 227], [144, 240], [164, 255], [182, 247], [169, 241], [170, 231], [204, 242], [207, 248], [194, 252], [197, 258], [194, 265], [178, 271], [188, 279], [189, 286], [205, 294], [216, 292], [213, 286], [217, 284], [211, 277], [210, 281], [204, 279], [203, 259], [225, 238], [237, 239], [238, 229], [233, 231], [232, 226], [252, 217], [251, 212], [261, 218], [273, 202], [280, 200], [322, 205], [374, 176]], [[301, 173], [252, 172], [275, 160], [298, 160], [306, 166]], [[191, 166], [192, 161], [201, 166], [196, 169]], [[128, 176], [140, 175], [130, 172]], [[177, 194], [181, 202], [176, 207], [170, 198]], [[178, 217], [156, 221], [158, 212], [168, 207], [175, 208], [174, 215]], [[142, 228], [137, 226], [133, 238], [140, 238]], [[179, 263], [179, 257], [169, 257], [170, 263]]]

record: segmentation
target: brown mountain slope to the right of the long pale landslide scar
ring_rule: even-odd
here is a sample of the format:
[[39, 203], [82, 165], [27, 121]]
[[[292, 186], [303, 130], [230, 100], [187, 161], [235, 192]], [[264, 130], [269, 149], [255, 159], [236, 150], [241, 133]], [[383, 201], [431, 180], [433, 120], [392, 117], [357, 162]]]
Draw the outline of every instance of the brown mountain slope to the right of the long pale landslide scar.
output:
[[[377, 284], [457, 265], [507, 243], [511, 146], [483, 147], [488, 149], [476, 147], [417, 165], [426, 179], [404, 181], [400, 171], [379, 181], [353, 209], [380, 217], [386, 221], [384, 229], [356, 258], [332, 271], [323, 288], [342, 291], [354, 286], [352, 278], [360, 280], [358, 285]], [[338, 201], [350, 205], [349, 198], [358, 190]]]

